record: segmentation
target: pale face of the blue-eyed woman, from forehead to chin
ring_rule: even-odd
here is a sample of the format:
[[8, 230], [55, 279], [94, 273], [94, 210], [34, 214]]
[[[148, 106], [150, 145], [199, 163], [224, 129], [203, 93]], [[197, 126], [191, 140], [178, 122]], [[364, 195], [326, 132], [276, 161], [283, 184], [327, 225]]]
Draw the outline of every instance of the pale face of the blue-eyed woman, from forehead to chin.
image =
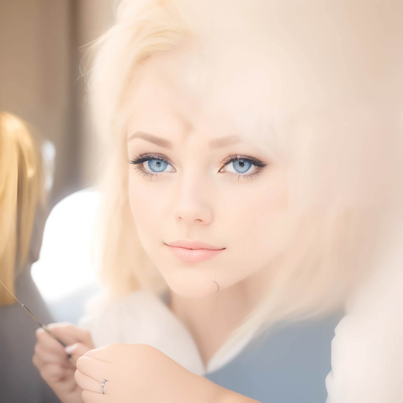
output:
[[169, 287], [201, 297], [267, 269], [284, 251], [288, 169], [181, 91], [169, 71], [151, 60], [133, 92], [129, 200], [141, 244]]

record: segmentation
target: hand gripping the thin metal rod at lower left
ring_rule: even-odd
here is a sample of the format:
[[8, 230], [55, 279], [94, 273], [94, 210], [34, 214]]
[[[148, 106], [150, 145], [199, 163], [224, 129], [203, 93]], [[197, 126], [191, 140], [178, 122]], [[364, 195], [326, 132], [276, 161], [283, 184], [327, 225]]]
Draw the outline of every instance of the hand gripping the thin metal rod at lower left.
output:
[[33, 365], [62, 403], [80, 403], [82, 390], [74, 380], [75, 364], [81, 355], [93, 349], [91, 335], [69, 323], [50, 324], [48, 328], [67, 347], [65, 349], [44, 329], [37, 329]]

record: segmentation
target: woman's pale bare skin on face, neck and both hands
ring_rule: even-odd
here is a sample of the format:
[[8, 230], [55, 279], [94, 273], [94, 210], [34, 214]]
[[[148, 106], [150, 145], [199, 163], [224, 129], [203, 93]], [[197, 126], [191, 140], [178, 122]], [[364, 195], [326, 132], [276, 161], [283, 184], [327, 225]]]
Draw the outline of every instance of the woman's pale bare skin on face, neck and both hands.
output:
[[[287, 247], [294, 228], [288, 166], [245, 141], [225, 114], [175, 87], [172, 71], [180, 77], [174, 58], [151, 59], [133, 91], [135, 112], [126, 133], [129, 201], [141, 244], [170, 287], [169, 307], [206, 365], [262, 299], [270, 267]], [[207, 243], [220, 252], [184, 261], [178, 242]], [[40, 329], [33, 363], [63, 403], [124, 403], [134, 396], [138, 402], [253, 401], [153, 347], [93, 349], [86, 330], [51, 328], [68, 348]]]

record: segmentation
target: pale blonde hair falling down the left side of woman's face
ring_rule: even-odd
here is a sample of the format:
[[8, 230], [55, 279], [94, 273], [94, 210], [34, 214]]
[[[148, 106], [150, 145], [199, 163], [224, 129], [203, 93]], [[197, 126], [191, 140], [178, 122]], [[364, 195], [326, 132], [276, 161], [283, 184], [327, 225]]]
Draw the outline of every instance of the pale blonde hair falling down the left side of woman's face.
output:
[[89, 96], [93, 121], [109, 159], [95, 235], [100, 255], [96, 253], [94, 260], [99, 259], [95, 265], [114, 295], [139, 288], [156, 293], [166, 289], [164, 279], [139, 243], [130, 211], [127, 158], [123, 158], [127, 153], [123, 136], [128, 116], [125, 107], [135, 67], [154, 54], [169, 52], [190, 35], [169, 1], [154, 1], [144, 8], [139, 8], [137, 2], [123, 1], [116, 12], [116, 24], [95, 45]]

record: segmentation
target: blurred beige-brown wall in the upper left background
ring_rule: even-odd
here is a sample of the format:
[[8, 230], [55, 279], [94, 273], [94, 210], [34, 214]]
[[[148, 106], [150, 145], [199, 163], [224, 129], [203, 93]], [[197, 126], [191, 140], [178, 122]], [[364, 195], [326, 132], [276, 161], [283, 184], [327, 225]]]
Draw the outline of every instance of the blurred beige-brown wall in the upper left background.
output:
[[97, 141], [78, 79], [79, 47], [110, 25], [113, 3], [0, 1], [0, 109], [35, 125], [56, 146], [51, 204], [94, 183]]

